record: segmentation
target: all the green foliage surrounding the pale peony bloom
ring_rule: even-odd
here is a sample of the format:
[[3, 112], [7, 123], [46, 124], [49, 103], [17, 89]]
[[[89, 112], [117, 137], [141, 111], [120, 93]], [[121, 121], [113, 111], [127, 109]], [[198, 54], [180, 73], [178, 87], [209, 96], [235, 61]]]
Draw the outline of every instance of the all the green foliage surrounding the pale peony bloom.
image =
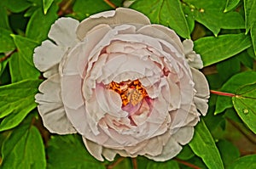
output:
[[122, 0], [0, 1], [0, 168], [256, 168], [256, 1], [137, 0], [130, 8], [195, 41], [212, 89], [193, 140], [171, 161], [96, 161], [79, 135], [50, 134], [34, 95], [42, 82], [33, 49], [58, 17], [77, 20]]

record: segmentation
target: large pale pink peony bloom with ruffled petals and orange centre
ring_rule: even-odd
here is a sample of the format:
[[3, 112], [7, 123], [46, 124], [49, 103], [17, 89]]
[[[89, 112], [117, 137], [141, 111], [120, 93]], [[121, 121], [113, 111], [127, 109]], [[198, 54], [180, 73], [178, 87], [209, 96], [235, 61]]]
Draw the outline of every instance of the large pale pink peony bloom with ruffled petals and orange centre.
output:
[[207, 114], [209, 88], [193, 42], [135, 10], [80, 23], [61, 18], [49, 39], [33, 56], [46, 78], [35, 97], [39, 114], [49, 132], [79, 132], [99, 161], [170, 160]]

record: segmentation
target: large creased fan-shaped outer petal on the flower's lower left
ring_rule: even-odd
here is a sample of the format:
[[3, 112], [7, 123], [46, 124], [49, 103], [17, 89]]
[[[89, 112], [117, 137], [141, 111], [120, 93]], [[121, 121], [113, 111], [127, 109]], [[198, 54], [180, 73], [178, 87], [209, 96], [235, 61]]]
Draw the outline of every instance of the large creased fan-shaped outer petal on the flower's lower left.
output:
[[60, 93], [60, 77], [58, 75], [51, 76], [44, 81], [35, 97], [38, 103], [38, 111], [41, 115], [44, 127], [49, 132], [55, 132], [58, 134], [75, 133], [71, 122], [68, 120], [66, 111], [61, 101]]

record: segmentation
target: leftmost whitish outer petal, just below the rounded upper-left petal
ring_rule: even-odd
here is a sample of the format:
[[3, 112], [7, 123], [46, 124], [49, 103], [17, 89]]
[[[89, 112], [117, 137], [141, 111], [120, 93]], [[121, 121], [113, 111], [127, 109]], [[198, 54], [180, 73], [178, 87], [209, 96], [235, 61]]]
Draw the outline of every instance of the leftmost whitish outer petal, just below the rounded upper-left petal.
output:
[[35, 48], [33, 61], [40, 71], [49, 70], [61, 62], [65, 49], [56, 46], [53, 42], [46, 40], [42, 46]]

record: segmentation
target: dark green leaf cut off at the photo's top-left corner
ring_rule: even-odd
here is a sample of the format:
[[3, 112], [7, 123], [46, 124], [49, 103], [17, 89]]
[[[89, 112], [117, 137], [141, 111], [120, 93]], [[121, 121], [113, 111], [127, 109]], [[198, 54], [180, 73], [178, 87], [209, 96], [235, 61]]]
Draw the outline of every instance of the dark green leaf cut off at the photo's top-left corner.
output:
[[4, 6], [14, 13], [20, 13], [32, 5], [32, 3], [29, 3], [27, 0], [19, 0], [19, 1], [2, 0], [2, 1], [4, 3]]

